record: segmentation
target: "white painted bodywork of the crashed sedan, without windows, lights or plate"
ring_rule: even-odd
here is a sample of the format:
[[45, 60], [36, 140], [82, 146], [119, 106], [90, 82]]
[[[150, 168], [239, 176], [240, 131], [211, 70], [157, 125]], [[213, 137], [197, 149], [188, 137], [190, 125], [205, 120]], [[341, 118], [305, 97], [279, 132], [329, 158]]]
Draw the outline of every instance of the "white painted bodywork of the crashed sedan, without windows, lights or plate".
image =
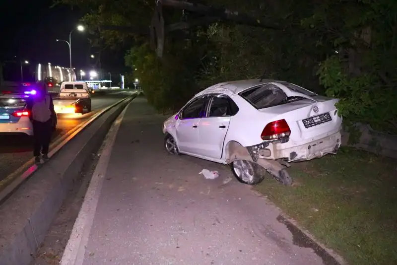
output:
[[[243, 91], [267, 84], [281, 89], [288, 97], [303, 99], [257, 109], [239, 95]], [[229, 97], [239, 111], [233, 116], [180, 119], [179, 113], [191, 102], [202, 96], [215, 94]], [[282, 158], [288, 162], [310, 160], [334, 153], [335, 148], [337, 150], [341, 144], [342, 119], [337, 115], [337, 101], [284, 81], [252, 79], [224, 82], [196, 94], [178, 114], [164, 122], [163, 133], [174, 137], [180, 153], [223, 164], [232, 162], [226, 153], [230, 142], [238, 142], [244, 147], [265, 144], [265, 148], [259, 147], [265, 149], [259, 158]], [[330, 114], [331, 121], [305, 128], [302, 120], [325, 113]], [[287, 141], [263, 140], [261, 133], [265, 126], [282, 119], [287, 122], [291, 131]]]

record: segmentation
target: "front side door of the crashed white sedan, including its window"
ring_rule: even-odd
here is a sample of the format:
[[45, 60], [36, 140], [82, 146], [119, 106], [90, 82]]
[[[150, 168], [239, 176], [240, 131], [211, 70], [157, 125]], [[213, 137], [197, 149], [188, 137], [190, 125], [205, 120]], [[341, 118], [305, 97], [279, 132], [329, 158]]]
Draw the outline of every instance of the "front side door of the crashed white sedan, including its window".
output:
[[199, 145], [199, 122], [205, 116], [208, 97], [200, 97], [182, 109], [175, 124], [178, 148], [196, 154]]

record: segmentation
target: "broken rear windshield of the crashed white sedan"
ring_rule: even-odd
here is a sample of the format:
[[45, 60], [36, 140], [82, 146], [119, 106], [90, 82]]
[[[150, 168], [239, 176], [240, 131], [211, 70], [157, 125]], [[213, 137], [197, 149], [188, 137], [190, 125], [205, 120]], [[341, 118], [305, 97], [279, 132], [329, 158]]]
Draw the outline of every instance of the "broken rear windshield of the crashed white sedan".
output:
[[265, 84], [239, 94], [257, 109], [284, 104], [288, 101], [287, 95], [274, 84]]

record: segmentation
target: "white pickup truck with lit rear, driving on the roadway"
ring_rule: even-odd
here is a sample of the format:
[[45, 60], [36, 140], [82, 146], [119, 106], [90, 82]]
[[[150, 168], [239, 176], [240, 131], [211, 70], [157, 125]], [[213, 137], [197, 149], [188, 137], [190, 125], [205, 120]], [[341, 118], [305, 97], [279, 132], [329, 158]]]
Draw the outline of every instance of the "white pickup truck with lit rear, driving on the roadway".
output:
[[91, 112], [91, 97], [87, 83], [63, 82], [58, 97], [54, 98], [54, 109], [58, 114]]

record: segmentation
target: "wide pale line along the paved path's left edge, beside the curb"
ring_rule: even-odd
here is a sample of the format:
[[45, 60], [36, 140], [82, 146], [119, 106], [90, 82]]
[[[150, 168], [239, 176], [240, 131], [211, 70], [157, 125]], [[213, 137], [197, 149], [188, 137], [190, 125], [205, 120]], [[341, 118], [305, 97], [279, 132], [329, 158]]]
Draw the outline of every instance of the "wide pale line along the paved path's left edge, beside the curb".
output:
[[[133, 101], [133, 100], [132, 100]], [[74, 222], [72, 232], [60, 262], [61, 265], [81, 265], [84, 261], [85, 249], [88, 244], [92, 223], [102, 190], [103, 179], [108, 169], [109, 159], [124, 115], [132, 103], [124, 108], [112, 125], [103, 143], [101, 157], [95, 167], [84, 201]]]

